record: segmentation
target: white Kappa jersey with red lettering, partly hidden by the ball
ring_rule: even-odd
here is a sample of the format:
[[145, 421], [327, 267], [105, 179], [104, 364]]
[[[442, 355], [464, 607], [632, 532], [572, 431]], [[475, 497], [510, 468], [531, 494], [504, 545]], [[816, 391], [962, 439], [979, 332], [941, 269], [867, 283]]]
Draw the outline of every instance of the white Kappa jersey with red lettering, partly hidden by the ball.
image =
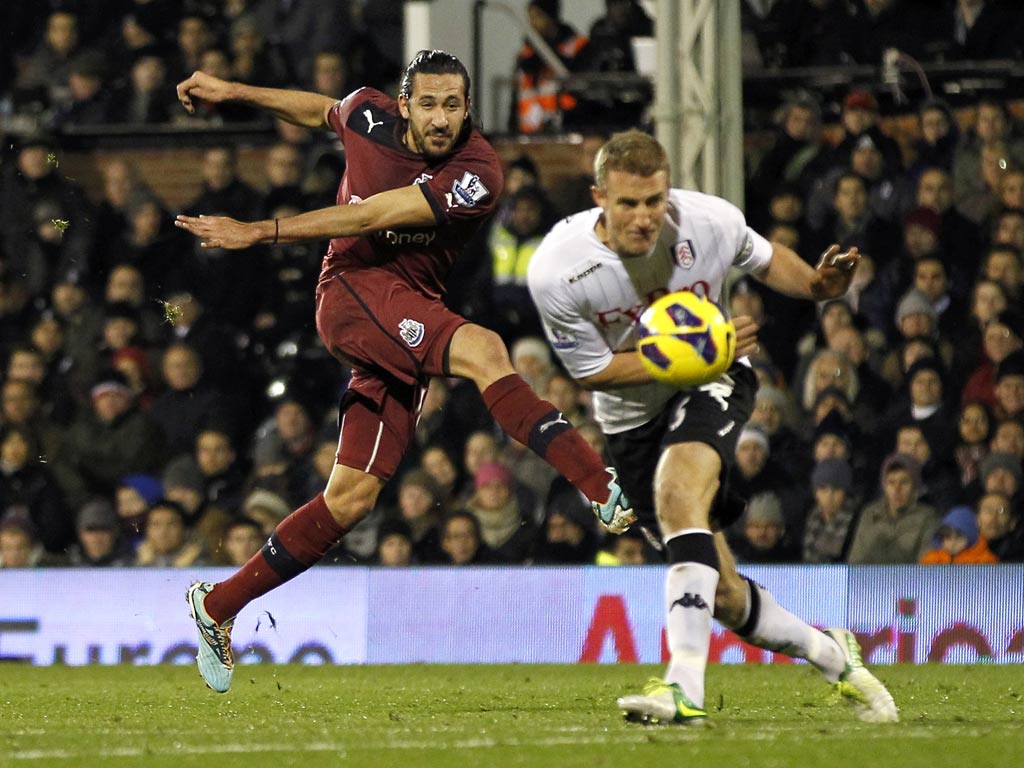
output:
[[[719, 301], [730, 267], [750, 272], [771, 261], [771, 244], [721, 198], [670, 189], [657, 245], [626, 259], [598, 240], [600, 214], [592, 208], [556, 224], [526, 275], [548, 340], [577, 379], [635, 349], [637, 321], [659, 297], [692, 291]], [[657, 416], [676, 391], [652, 382], [595, 392], [594, 415], [606, 433], [625, 432]]]

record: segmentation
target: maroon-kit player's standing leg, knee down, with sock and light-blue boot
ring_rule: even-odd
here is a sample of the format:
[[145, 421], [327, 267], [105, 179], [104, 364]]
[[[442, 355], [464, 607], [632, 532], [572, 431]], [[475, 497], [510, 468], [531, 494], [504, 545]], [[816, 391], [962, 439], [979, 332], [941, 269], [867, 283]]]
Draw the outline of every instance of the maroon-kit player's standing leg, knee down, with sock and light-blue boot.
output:
[[282, 520], [238, 572], [219, 584], [196, 582], [188, 588], [188, 612], [199, 631], [196, 660], [210, 688], [225, 693], [231, 686], [231, 628], [238, 612], [323, 558], [373, 509], [383, 483], [359, 470], [335, 465], [325, 492]]

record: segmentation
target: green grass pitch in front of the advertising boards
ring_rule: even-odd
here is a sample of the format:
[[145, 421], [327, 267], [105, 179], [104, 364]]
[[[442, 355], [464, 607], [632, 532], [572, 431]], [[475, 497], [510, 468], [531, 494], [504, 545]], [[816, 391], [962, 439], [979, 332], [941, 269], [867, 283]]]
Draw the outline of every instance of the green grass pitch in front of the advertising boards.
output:
[[713, 666], [714, 727], [623, 723], [659, 668], [0, 667], [2, 766], [1020, 765], [1024, 668], [886, 667], [898, 725], [860, 723], [802, 667]]

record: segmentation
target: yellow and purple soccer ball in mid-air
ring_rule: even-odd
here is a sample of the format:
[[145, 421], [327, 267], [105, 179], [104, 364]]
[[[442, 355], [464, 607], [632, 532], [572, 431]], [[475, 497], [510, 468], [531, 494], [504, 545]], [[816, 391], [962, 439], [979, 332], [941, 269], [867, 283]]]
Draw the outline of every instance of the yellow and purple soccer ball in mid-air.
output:
[[637, 354], [658, 381], [679, 387], [707, 384], [729, 370], [736, 329], [707, 296], [679, 291], [640, 315]]

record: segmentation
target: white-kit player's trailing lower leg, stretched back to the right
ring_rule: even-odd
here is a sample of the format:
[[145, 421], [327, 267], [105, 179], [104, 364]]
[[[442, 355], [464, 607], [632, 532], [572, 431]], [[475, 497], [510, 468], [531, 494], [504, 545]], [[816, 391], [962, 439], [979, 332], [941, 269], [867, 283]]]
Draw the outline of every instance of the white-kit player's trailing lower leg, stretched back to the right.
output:
[[892, 695], [864, 666], [852, 632], [811, 627], [779, 605], [774, 596], [736, 571], [722, 534], [715, 535], [721, 567], [715, 617], [752, 645], [813, 665], [869, 723], [895, 723], [899, 713]]

